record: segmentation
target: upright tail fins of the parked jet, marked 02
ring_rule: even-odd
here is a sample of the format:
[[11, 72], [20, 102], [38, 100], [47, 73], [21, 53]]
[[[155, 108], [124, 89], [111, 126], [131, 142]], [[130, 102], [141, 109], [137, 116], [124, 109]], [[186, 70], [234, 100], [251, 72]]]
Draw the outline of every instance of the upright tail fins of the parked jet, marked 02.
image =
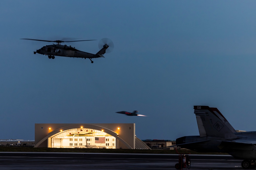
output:
[[212, 136], [226, 139], [236, 138], [236, 130], [217, 108], [194, 106], [200, 137]]

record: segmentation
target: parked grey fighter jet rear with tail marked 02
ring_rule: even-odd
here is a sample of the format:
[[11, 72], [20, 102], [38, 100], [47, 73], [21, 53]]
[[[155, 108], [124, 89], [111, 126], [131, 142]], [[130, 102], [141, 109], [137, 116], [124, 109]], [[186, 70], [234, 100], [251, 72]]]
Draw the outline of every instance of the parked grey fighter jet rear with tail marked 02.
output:
[[256, 131], [237, 132], [217, 108], [194, 106], [200, 136], [176, 139], [176, 146], [197, 152], [223, 152], [243, 159], [242, 168], [256, 168]]

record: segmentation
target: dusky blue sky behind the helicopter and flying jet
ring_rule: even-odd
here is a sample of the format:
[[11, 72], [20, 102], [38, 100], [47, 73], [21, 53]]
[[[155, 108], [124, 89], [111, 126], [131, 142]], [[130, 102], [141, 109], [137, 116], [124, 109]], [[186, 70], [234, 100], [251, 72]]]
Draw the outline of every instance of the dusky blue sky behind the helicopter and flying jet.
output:
[[[255, 1], [2, 1], [0, 139], [35, 123], [135, 123], [140, 139], [198, 135], [194, 105], [253, 131]], [[105, 58], [33, 54], [47, 42], [110, 38]], [[62, 43], [97, 53], [98, 41]], [[117, 111], [138, 110], [142, 116]]]

